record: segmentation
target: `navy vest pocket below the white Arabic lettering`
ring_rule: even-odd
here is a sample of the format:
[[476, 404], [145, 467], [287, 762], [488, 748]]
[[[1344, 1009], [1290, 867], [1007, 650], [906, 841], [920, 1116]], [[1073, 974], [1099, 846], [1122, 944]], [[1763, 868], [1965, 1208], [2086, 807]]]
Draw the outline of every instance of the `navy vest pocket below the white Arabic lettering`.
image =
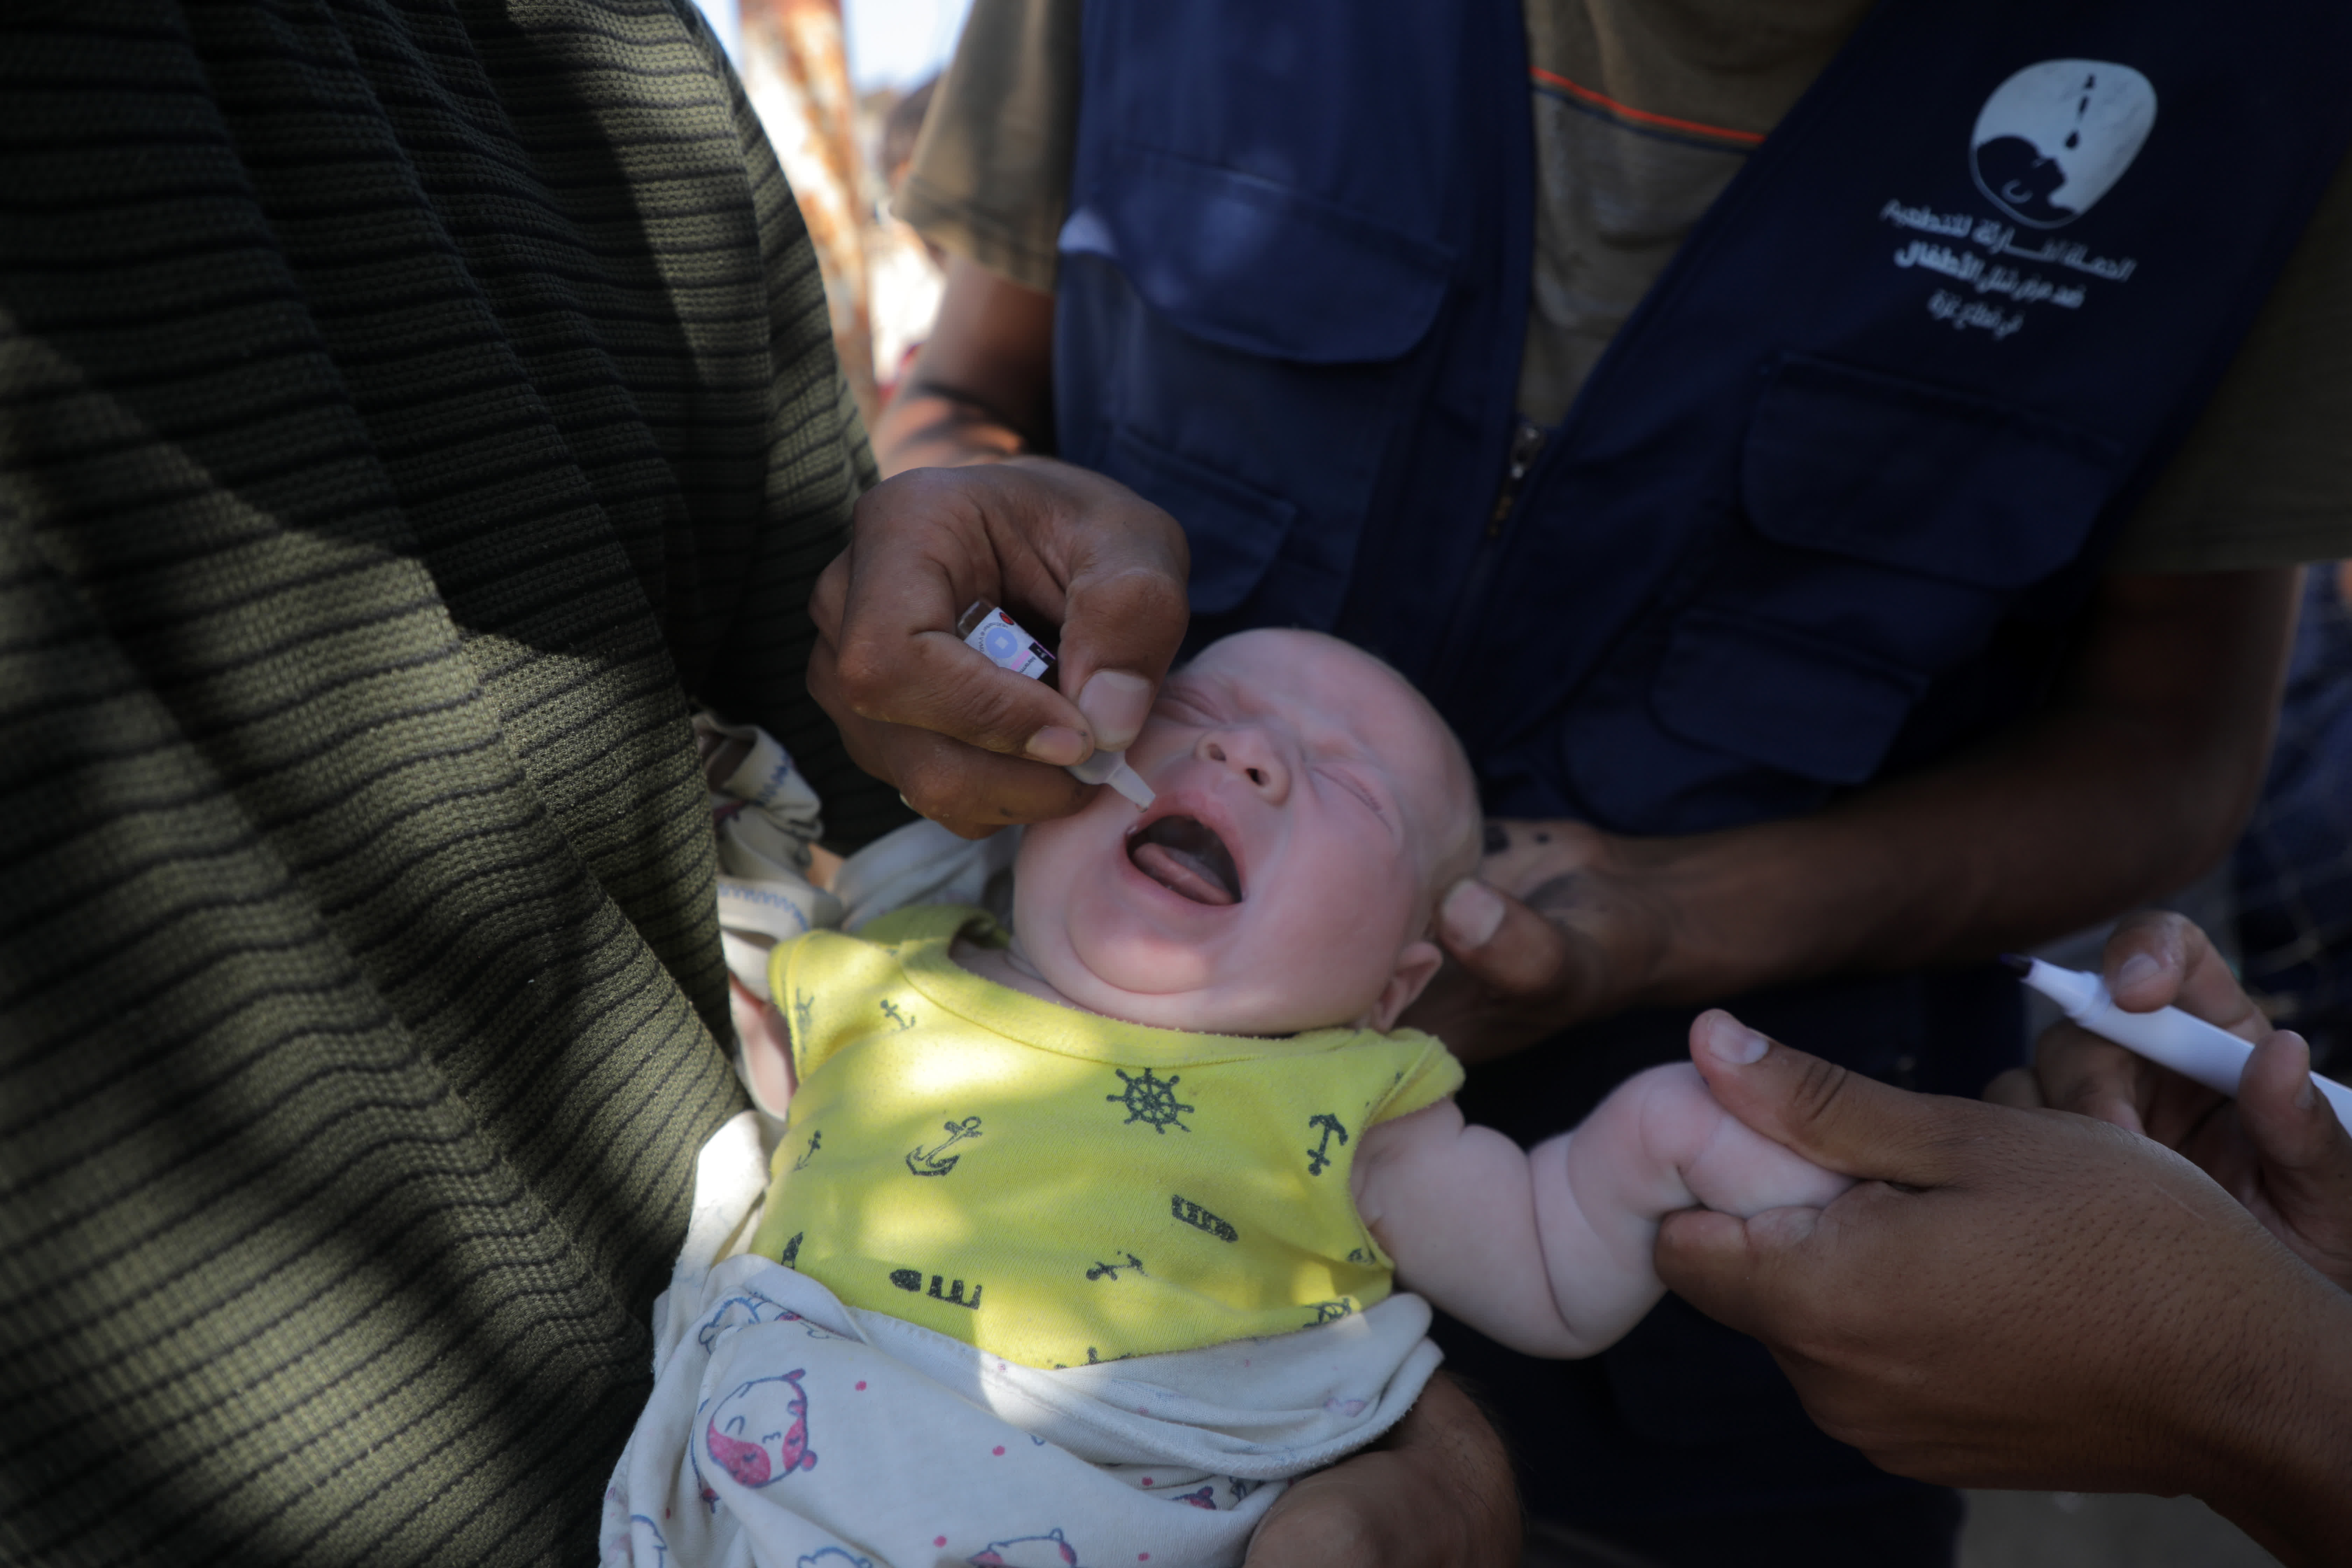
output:
[[1740, 449], [1743, 522], [1663, 639], [1651, 712], [1708, 750], [1863, 783], [1926, 686], [2082, 555], [2122, 477], [2093, 433], [1790, 355]]

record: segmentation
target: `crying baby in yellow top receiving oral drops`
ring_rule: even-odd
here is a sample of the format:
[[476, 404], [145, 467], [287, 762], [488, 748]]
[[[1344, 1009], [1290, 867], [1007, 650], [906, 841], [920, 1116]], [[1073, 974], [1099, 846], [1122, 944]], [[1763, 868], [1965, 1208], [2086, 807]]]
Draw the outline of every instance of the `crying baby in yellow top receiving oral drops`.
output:
[[1228, 637], [1127, 759], [1155, 804], [1030, 827], [1009, 940], [927, 907], [776, 950], [746, 1070], [788, 1131], [753, 1255], [673, 1307], [607, 1561], [1237, 1563], [1411, 1406], [1425, 1300], [1585, 1356], [1663, 1293], [1665, 1213], [1844, 1190], [1689, 1065], [1531, 1152], [1463, 1124], [1397, 1018], [1477, 795], [1381, 661]]

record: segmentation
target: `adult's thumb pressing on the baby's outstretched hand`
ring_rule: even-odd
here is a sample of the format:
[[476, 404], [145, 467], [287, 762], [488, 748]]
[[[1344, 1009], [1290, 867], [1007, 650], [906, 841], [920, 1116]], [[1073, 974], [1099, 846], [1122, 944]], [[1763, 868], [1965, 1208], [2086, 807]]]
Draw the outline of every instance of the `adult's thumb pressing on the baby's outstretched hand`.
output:
[[1990, 1112], [1973, 1100], [1919, 1095], [1771, 1041], [1722, 1009], [1691, 1023], [1691, 1060], [1717, 1103], [1816, 1166], [1860, 1180], [1940, 1187], [1955, 1121]]

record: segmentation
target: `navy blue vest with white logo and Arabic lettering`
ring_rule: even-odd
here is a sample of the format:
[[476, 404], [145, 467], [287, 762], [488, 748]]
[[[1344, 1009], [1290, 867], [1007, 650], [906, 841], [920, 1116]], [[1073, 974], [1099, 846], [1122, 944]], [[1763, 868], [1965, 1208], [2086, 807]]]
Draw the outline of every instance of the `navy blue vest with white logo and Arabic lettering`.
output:
[[[1512, 482], [1517, 0], [1091, 0], [1082, 47], [1061, 456], [1185, 524], [1195, 642], [1336, 630], [1432, 696], [1489, 811], [1635, 835], [2027, 712], [2352, 139], [2345, 5], [1882, 0]], [[1952, 1093], [2020, 1046], [1985, 971], [1740, 1011]], [[1465, 1107], [1566, 1126], [1684, 1023], [1482, 1067]], [[1889, 1486], [1675, 1300], [1595, 1363], [1486, 1371], [1538, 1512]]]

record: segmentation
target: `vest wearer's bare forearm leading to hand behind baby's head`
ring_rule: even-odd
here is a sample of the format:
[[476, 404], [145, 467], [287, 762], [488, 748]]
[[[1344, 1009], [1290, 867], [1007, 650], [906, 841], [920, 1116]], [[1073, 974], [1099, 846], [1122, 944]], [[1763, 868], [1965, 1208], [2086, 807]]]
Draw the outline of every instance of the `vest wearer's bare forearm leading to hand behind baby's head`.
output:
[[2260, 785], [2293, 581], [2114, 578], [2060, 693], [2002, 741], [1809, 818], [1618, 842], [1670, 912], [1630, 1001], [1966, 961], [2194, 879]]

